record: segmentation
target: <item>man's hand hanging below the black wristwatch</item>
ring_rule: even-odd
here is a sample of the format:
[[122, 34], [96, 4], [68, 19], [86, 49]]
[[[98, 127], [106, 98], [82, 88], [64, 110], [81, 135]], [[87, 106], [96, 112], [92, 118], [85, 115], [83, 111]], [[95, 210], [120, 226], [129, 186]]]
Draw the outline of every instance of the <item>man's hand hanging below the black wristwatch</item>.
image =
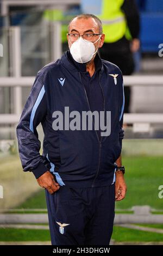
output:
[[124, 174], [117, 170], [116, 171], [116, 182], [115, 182], [115, 200], [121, 201], [125, 198], [127, 191], [126, 182], [124, 180]]

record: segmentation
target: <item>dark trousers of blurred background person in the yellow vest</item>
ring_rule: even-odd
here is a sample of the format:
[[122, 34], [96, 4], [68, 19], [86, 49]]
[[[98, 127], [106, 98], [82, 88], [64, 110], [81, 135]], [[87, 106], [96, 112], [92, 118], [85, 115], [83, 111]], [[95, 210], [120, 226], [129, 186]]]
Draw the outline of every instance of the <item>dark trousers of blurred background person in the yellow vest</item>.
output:
[[[113, 43], [104, 43], [99, 50], [100, 57], [117, 65], [123, 75], [129, 76], [133, 74], [135, 64], [133, 53], [130, 51], [130, 42], [123, 37]], [[125, 105], [124, 113], [129, 113], [130, 106], [130, 87], [124, 87]]]

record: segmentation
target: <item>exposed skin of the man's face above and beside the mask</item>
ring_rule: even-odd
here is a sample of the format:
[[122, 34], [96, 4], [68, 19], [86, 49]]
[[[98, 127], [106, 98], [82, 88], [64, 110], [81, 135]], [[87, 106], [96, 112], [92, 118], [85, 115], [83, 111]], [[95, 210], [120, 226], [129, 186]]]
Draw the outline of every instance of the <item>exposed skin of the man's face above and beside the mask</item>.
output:
[[[99, 34], [98, 24], [92, 17], [90, 17], [89, 19], [75, 18], [70, 23], [69, 29], [70, 30], [68, 33], [78, 33], [80, 35], [83, 35], [85, 33]], [[99, 38], [99, 35], [94, 35], [93, 38], [91, 39], [91, 42], [95, 42], [98, 38]], [[103, 46], [104, 38], [105, 38], [105, 35], [102, 34], [101, 38], [97, 42], [95, 42], [94, 45], [95, 45], [96, 50], [97, 50], [97, 48], [101, 48]], [[74, 40], [71, 40], [71, 42], [70, 42], [70, 38], [68, 38], [68, 35], [67, 35], [67, 40], [68, 40], [68, 47], [70, 48], [71, 44], [73, 44]]]

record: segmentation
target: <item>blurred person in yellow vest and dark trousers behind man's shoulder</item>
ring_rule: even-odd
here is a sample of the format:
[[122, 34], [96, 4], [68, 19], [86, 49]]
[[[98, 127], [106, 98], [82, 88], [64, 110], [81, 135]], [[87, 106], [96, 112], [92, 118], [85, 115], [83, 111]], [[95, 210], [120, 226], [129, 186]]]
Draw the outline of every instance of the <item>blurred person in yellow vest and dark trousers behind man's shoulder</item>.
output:
[[[101, 14], [105, 40], [99, 50], [101, 58], [116, 64], [123, 75], [131, 75], [135, 64], [133, 53], [140, 48], [139, 11], [134, 0], [102, 0]], [[124, 113], [129, 113], [130, 87], [124, 87]]]

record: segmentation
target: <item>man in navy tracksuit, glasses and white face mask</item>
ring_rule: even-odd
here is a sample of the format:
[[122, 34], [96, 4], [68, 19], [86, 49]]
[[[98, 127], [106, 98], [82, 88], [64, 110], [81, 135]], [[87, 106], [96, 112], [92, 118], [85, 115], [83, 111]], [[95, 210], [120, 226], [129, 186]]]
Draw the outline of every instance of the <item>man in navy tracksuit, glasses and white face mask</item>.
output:
[[[32, 171], [45, 188], [52, 245], [109, 245], [115, 200], [126, 194], [122, 73], [98, 56], [104, 34], [96, 16], [75, 17], [67, 39], [70, 51], [35, 78], [17, 126], [20, 158], [23, 170]], [[84, 112], [92, 113], [92, 129], [83, 129]], [[107, 136], [103, 126], [95, 128], [100, 122], [94, 112], [104, 113]], [[40, 123], [42, 155], [36, 130]]]

